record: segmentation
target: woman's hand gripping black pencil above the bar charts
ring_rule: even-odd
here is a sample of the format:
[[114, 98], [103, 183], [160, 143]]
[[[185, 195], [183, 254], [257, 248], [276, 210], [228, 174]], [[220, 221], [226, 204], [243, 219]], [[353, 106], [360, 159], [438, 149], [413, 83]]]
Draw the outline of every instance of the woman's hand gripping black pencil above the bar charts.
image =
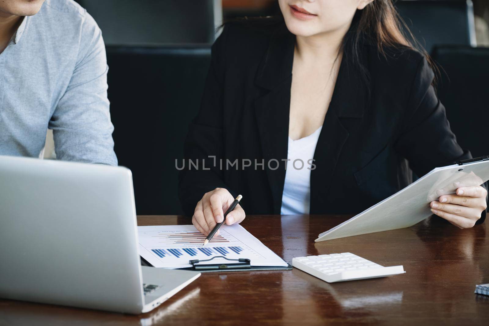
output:
[[[231, 206], [235, 198], [224, 188], [216, 188], [206, 193], [195, 207], [192, 223], [199, 232], [208, 235], [216, 224], [224, 220], [224, 212]], [[227, 225], [241, 223], [246, 215], [243, 208], [237, 204], [226, 216]], [[219, 234], [219, 230], [215, 236]]]

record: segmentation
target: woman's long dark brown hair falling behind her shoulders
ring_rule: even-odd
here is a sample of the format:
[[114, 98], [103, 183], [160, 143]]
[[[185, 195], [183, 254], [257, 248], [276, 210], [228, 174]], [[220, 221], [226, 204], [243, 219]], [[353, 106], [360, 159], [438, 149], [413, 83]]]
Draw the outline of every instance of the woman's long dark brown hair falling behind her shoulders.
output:
[[[263, 30], [287, 31], [284, 17], [280, 11], [276, 15], [267, 17], [231, 19], [224, 22], [222, 26], [227, 23], [246, 24], [252, 28]], [[408, 26], [398, 14], [393, 0], [374, 0], [362, 10], [357, 10], [350, 29], [341, 44], [340, 51], [358, 67], [360, 77], [370, 88], [370, 76], [362, 64], [360, 56], [361, 46], [366, 41], [377, 45], [378, 52], [384, 57], [389, 55], [388, 49], [416, 49], [425, 56], [428, 64], [435, 71], [435, 76], [439, 74], [439, 70], [429, 54], [409, 31]], [[434, 85], [435, 83], [436, 77], [433, 81]]]

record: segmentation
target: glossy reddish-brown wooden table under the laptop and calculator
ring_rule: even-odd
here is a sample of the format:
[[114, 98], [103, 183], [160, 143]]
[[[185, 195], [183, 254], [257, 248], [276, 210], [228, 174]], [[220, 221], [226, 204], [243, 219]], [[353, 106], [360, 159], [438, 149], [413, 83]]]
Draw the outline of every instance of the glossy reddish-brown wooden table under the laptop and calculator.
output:
[[[242, 225], [291, 262], [353, 252], [403, 275], [326, 283], [298, 269], [204, 273], [156, 310], [139, 315], [0, 300], [0, 325], [487, 325], [487, 223], [460, 230], [439, 218], [411, 228], [315, 243], [345, 216], [250, 216]], [[189, 224], [140, 216], [139, 225]]]

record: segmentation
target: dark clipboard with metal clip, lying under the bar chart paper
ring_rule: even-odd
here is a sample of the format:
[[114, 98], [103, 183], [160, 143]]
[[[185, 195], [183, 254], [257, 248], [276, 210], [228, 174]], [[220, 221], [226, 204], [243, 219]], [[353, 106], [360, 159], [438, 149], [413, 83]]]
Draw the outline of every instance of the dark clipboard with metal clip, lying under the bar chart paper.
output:
[[[215, 258], [223, 258], [229, 263], [207, 263], [213, 261]], [[236, 262], [234, 262], [236, 261]], [[202, 263], [204, 262], [204, 263]], [[252, 266], [251, 261], [247, 258], [240, 259], [229, 259], [224, 256], [214, 256], [206, 260], [191, 260], [189, 263], [192, 267], [187, 268], [177, 268], [178, 270], [188, 270], [188, 271], [199, 271], [201, 273], [211, 273], [211, 272], [247, 272], [247, 271], [264, 271], [264, 270], [291, 270], [292, 265], [287, 263], [287, 266]], [[146, 261], [141, 257], [141, 265], [154, 267], [151, 263]]]

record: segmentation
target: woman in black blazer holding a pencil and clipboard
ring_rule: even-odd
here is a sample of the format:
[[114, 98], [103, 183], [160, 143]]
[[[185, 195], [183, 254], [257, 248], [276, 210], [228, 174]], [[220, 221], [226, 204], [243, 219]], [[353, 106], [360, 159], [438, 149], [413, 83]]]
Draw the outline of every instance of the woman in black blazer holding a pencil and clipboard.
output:
[[[400, 33], [391, 0], [279, 4], [283, 17], [226, 24], [212, 46], [179, 184], [198, 230], [208, 234], [238, 193], [244, 205], [227, 224], [244, 210], [281, 214], [284, 187], [298, 189], [287, 199], [302, 198], [296, 214], [357, 214], [407, 186], [411, 171], [471, 157], [450, 130], [428, 56]], [[288, 184], [288, 139], [312, 134], [313, 157], [303, 160], [310, 182], [303, 171]], [[481, 186], [462, 187], [431, 207], [468, 228], [485, 217], [486, 196]]]

